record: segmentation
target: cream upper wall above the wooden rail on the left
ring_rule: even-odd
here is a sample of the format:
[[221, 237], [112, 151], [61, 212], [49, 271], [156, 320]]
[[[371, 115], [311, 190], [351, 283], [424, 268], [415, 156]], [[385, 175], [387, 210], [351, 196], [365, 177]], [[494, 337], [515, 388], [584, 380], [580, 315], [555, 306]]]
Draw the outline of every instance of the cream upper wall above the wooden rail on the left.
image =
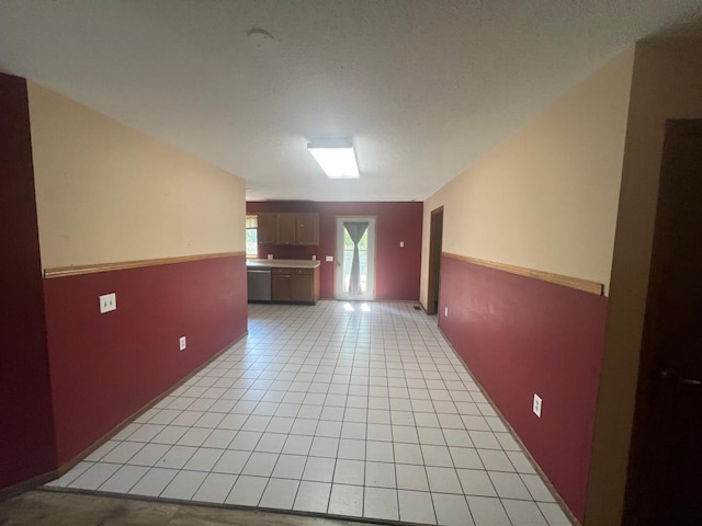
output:
[[245, 250], [245, 181], [27, 83], [44, 268]]

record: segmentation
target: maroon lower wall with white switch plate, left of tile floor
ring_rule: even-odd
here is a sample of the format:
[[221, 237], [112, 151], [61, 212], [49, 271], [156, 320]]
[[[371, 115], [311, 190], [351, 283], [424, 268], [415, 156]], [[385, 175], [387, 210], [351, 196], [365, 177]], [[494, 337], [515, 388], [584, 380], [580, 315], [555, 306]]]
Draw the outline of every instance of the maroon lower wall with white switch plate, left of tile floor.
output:
[[[59, 465], [247, 330], [244, 255], [49, 278], [44, 287]], [[117, 310], [100, 315], [98, 297], [107, 293]]]

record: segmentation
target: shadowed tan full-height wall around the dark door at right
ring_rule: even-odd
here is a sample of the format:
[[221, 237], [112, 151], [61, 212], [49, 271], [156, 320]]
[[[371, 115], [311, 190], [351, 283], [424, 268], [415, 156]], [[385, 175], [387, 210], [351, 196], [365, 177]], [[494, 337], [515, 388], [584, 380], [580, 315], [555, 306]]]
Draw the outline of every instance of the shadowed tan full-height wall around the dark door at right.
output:
[[621, 523], [669, 118], [702, 118], [702, 39], [659, 39], [636, 46], [587, 525]]

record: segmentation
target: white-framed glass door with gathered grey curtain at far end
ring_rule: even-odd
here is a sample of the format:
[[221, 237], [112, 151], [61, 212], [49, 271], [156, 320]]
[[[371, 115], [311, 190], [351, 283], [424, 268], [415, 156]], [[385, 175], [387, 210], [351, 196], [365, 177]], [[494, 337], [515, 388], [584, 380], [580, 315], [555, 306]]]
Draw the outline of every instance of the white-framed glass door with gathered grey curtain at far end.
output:
[[337, 217], [335, 298], [375, 299], [375, 217]]

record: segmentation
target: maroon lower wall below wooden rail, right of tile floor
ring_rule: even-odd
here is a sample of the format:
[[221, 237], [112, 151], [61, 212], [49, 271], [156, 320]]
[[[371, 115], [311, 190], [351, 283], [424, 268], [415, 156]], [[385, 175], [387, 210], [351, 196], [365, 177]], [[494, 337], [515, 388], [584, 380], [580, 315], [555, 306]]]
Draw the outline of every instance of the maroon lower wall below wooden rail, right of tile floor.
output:
[[441, 259], [439, 327], [580, 521], [607, 307], [605, 297]]

